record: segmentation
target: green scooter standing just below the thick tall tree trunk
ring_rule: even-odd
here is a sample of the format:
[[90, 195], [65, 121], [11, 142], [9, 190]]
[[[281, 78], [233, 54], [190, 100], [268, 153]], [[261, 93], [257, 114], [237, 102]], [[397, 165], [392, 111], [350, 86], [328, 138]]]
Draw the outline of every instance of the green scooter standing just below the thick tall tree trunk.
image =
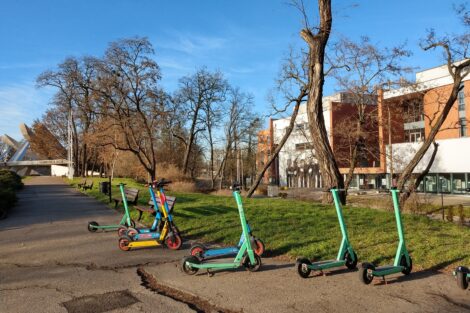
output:
[[307, 278], [312, 270], [323, 272], [323, 270], [340, 266], [346, 266], [350, 270], [357, 267], [357, 255], [349, 243], [348, 231], [346, 230], [346, 224], [344, 223], [343, 209], [341, 208], [338, 192], [339, 190], [336, 188], [331, 189], [331, 194], [333, 195], [333, 201], [336, 208], [336, 215], [338, 215], [339, 226], [341, 228], [341, 234], [343, 235], [338, 255], [334, 260], [318, 262], [311, 262], [307, 258], [297, 259], [297, 273], [300, 277]]

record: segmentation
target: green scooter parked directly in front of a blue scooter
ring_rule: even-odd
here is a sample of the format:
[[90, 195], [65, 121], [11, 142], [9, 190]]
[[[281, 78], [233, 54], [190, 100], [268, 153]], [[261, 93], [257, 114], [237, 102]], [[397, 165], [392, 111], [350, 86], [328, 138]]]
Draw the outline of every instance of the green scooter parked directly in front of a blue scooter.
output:
[[253, 252], [250, 235], [248, 231], [248, 224], [245, 218], [242, 199], [240, 195], [240, 185], [233, 185], [233, 196], [238, 206], [238, 214], [240, 216], [240, 223], [242, 226], [244, 241], [238, 250], [235, 259], [229, 263], [220, 262], [207, 262], [207, 260], [200, 260], [197, 256], [191, 255], [184, 257], [181, 260], [181, 269], [188, 275], [196, 274], [199, 269], [206, 269], [209, 273], [210, 270], [223, 270], [230, 268], [238, 268], [244, 266], [250, 272], [256, 272], [261, 267], [261, 257]]

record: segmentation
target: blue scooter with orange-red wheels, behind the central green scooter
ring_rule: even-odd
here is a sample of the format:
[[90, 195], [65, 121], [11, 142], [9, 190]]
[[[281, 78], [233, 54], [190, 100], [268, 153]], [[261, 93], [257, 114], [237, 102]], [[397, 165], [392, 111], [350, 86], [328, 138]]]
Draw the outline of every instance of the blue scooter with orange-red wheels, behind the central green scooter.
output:
[[[259, 256], [262, 256], [264, 253], [264, 243], [261, 239], [258, 239], [253, 236], [250, 228], [250, 224], [246, 224], [248, 229], [248, 234], [250, 235], [251, 246], [253, 247], [253, 252]], [[243, 233], [240, 236], [240, 240], [238, 245], [235, 247], [226, 247], [226, 248], [217, 248], [217, 249], [209, 249], [205, 245], [201, 243], [195, 243], [191, 245], [190, 253], [191, 255], [196, 256], [199, 260], [210, 260], [210, 259], [217, 259], [228, 257], [231, 255], [236, 255], [238, 251], [240, 251], [240, 247], [243, 245], [245, 241], [245, 236]]]

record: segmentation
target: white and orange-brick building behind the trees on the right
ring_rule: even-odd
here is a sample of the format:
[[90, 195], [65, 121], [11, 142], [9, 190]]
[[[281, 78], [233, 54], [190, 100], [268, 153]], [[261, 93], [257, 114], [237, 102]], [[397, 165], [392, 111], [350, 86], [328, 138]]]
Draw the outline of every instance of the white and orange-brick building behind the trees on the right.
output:
[[[421, 184], [426, 192], [463, 193], [470, 191], [470, 138], [467, 123], [470, 119], [470, 76], [465, 78], [459, 97], [441, 127], [436, 139], [440, 144], [430, 174]], [[380, 91], [368, 100], [366, 111], [370, 121], [365, 126], [367, 136], [361, 142], [351, 188], [389, 188], [414, 155], [435, 122], [439, 108], [444, 105], [451, 89], [451, 77], [446, 66], [416, 73], [415, 88]], [[349, 134], [357, 121], [351, 95], [338, 93], [323, 98], [325, 126], [330, 145], [345, 175], [349, 172]], [[439, 112], [440, 113], [440, 112]], [[273, 147], [279, 143], [289, 125], [290, 117], [270, 122], [270, 129], [260, 132], [271, 136]], [[390, 129], [390, 132], [389, 132]], [[291, 188], [321, 188], [320, 170], [315, 159], [308, 129], [305, 104], [299, 109], [296, 126], [279, 153], [270, 181]], [[269, 139], [264, 139], [268, 142]], [[265, 158], [266, 149], [259, 147], [258, 157]], [[421, 172], [432, 154], [431, 147], [416, 168]], [[272, 151], [272, 150], [271, 150]], [[261, 159], [260, 159], [261, 162]], [[258, 167], [259, 168], [259, 167]], [[393, 177], [391, 173], [393, 172]], [[276, 176], [277, 175], [277, 176]]]

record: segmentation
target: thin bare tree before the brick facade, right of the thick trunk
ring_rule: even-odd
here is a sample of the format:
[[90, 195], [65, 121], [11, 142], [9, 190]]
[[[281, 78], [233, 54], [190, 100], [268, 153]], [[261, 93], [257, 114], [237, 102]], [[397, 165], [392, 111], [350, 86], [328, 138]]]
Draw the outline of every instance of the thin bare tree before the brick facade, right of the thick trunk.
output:
[[[368, 37], [361, 37], [359, 42], [342, 38], [334, 45], [334, 54], [330, 62], [336, 65], [335, 78], [338, 87], [346, 94], [346, 104], [354, 107], [353, 116], [339, 129], [337, 146], [348, 150], [349, 164], [345, 189], [349, 188], [358, 159], [376, 158], [379, 153], [377, 140], [377, 86], [393, 79], [399, 79], [411, 69], [400, 64], [411, 53], [404, 45], [392, 48], [379, 48]], [[375, 149], [377, 148], [377, 149]], [[336, 150], [336, 149], [335, 149]], [[372, 150], [372, 151], [371, 151]], [[337, 161], [341, 153], [335, 151]]]

